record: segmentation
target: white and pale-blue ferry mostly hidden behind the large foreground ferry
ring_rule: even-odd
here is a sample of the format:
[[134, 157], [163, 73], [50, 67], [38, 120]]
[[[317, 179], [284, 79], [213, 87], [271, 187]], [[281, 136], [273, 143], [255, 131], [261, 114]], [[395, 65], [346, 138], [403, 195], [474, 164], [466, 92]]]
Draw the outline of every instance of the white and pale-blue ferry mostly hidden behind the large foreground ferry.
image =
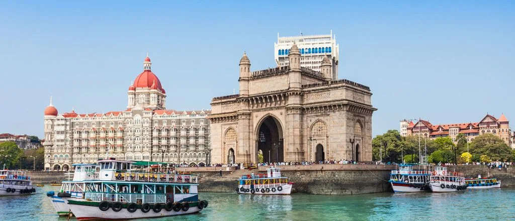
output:
[[77, 163], [72, 164], [75, 169], [73, 179], [61, 182], [61, 190], [55, 196], [54, 191], [48, 191], [46, 195], [50, 197], [52, 206], [56, 209], [59, 216], [70, 216], [70, 207], [66, 198], [82, 198], [85, 189], [84, 180], [98, 178], [96, 172], [97, 164]]

